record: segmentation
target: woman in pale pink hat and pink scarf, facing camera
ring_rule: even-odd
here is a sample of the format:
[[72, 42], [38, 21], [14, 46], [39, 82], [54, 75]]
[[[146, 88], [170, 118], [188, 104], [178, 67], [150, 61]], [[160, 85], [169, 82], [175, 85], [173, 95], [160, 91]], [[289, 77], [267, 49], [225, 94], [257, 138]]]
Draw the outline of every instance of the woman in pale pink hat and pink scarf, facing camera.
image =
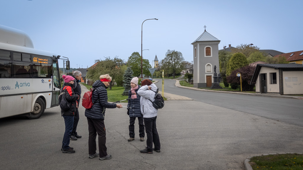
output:
[[140, 96], [137, 94], [139, 88], [141, 87], [138, 85], [138, 77], [134, 77], [131, 80], [131, 90], [128, 91], [128, 104], [127, 104], [127, 114], [129, 115], [129, 139], [128, 141], [131, 142], [135, 140], [135, 120], [136, 117], [139, 121], [139, 136], [140, 141], [144, 141], [144, 123], [143, 123], [143, 115], [140, 109]]

